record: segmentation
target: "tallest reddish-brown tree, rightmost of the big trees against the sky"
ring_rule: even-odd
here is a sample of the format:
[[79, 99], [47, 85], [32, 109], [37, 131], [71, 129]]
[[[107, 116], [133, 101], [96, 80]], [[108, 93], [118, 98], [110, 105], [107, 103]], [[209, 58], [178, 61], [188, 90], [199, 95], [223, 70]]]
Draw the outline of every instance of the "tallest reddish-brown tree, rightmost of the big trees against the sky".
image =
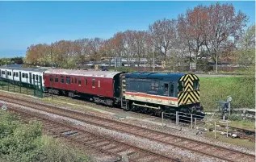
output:
[[[236, 43], [239, 35], [246, 27], [248, 18], [238, 11], [237, 15], [232, 4], [216, 3], [208, 7], [208, 39], [206, 47], [209, 52], [213, 51], [212, 59], [216, 61], [217, 52], [230, 47], [230, 41]], [[211, 50], [212, 49], [212, 50]]]

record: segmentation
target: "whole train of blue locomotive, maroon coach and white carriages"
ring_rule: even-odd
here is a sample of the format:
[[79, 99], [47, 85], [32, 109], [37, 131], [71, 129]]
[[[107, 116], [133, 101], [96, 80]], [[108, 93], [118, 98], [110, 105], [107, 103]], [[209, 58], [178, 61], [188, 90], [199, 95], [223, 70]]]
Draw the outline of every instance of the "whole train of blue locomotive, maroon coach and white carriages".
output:
[[0, 77], [33, 84], [42, 76], [45, 93], [89, 99], [149, 114], [175, 111], [201, 114], [199, 78], [185, 73], [122, 73], [69, 69], [0, 67]]

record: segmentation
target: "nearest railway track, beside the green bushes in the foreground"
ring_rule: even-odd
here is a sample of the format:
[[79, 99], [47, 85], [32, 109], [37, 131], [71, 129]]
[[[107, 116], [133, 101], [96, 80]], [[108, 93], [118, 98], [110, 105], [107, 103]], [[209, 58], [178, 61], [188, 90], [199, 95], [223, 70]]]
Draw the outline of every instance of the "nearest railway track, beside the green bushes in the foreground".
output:
[[71, 127], [69, 124], [61, 123], [56, 120], [52, 120], [50, 118], [44, 117], [39, 114], [34, 114], [28, 112], [27, 110], [17, 109], [9, 107], [8, 110], [11, 113], [19, 114], [19, 116], [23, 120], [29, 120], [33, 117], [36, 117], [36, 121], [42, 123], [42, 126], [45, 130], [48, 130], [53, 133], [55, 137], [65, 137], [76, 143], [81, 143], [88, 147], [92, 147], [95, 150], [99, 150], [100, 152], [107, 153], [110, 156], [114, 156], [116, 161], [121, 160], [121, 153], [128, 152], [129, 161], [137, 162], [137, 161], [180, 161], [178, 159], [174, 159], [171, 156], [161, 155], [155, 152], [150, 152], [149, 150], [134, 147], [127, 143], [122, 143], [115, 139], [107, 138], [103, 135], [96, 135], [89, 131], [79, 129], [78, 127]]

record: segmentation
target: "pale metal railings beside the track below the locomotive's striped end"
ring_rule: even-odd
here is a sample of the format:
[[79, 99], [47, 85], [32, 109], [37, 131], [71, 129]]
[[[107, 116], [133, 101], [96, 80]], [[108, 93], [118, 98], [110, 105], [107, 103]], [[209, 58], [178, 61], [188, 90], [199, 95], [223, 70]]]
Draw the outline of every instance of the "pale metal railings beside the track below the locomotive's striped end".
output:
[[162, 127], [173, 127], [177, 131], [183, 131], [183, 127], [187, 127], [190, 131], [195, 131], [196, 135], [203, 131], [213, 132], [215, 139], [219, 135], [231, 138], [238, 137], [238, 134], [233, 131], [233, 127], [229, 127], [229, 123], [229, 120], [221, 121], [208, 115], [201, 116], [178, 111], [175, 114], [162, 112]]

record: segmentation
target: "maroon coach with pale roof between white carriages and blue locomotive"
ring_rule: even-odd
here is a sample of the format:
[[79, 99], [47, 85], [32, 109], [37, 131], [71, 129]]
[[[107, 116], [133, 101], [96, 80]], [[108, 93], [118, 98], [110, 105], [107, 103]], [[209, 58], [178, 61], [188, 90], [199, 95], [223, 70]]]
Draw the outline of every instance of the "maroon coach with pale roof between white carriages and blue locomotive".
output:
[[44, 72], [44, 89], [48, 93], [88, 98], [112, 105], [120, 98], [121, 72], [49, 69]]

